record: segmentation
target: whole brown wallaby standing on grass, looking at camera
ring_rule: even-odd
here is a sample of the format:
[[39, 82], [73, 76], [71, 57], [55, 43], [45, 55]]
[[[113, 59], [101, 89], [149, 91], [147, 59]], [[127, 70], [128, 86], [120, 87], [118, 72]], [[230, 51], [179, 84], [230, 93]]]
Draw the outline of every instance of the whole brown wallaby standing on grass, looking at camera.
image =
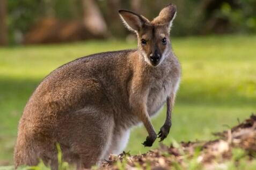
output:
[[158, 133], [169, 134], [181, 68], [169, 38], [176, 7], [169, 4], [149, 21], [120, 10], [125, 26], [137, 34], [138, 48], [78, 58], [50, 73], [35, 89], [19, 122], [16, 168], [41, 159], [57, 169], [56, 143], [63, 160], [78, 169], [119, 154], [130, 128], [143, 122], [151, 146], [157, 138], [150, 117], [167, 103]]

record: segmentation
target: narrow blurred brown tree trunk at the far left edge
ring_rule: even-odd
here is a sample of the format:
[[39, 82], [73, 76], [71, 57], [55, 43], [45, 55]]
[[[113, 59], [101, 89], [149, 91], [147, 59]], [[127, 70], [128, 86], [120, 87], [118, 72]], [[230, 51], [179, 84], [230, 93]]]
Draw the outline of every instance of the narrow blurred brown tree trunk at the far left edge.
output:
[[0, 45], [7, 43], [6, 0], [0, 0]]

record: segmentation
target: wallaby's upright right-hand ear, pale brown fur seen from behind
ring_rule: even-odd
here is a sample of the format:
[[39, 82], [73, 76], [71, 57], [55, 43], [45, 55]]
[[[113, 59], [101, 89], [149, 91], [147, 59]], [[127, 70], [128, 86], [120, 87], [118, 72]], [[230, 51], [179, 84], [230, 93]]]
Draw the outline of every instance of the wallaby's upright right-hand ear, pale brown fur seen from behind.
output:
[[169, 31], [172, 26], [172, 21], [176, 17], [176, 5], [169, 4], [165, 6], [159, 13], [158, 17], [153, 20], [153, 23], [167, 25]]

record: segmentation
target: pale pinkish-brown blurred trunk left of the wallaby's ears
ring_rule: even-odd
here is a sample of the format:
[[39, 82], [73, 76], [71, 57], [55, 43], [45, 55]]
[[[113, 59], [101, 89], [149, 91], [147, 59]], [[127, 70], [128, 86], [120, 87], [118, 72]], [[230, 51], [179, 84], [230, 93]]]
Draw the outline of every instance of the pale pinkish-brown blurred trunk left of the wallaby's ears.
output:
[[84, 26], [96, 37], [107, 36], [107, 25], [94, 0], [83, 0]]

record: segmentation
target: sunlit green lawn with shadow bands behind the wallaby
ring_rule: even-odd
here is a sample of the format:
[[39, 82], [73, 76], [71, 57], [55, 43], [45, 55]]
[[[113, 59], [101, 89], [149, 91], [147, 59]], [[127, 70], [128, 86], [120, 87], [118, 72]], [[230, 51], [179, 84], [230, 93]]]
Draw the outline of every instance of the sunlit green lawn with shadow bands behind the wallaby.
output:
[[[207, 140], [256, 112], [256, 35], [173, 38], [181, 61], [182, 81], [173, 126], [164, 144]], [[75, 58], [101, 51], [135, 48], [136, 42], [89, 41], [71, 44], [0, 48], [0, 165], [12, 164], [18, 120], [27, 99], [53, 69]], [[164, 123], [165, 108], [153, 119]], [[131, 132], [127, 151], [145, 152], [141, 126]], [[155, 142], [153, 148], [158, 146]]]

